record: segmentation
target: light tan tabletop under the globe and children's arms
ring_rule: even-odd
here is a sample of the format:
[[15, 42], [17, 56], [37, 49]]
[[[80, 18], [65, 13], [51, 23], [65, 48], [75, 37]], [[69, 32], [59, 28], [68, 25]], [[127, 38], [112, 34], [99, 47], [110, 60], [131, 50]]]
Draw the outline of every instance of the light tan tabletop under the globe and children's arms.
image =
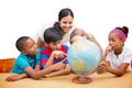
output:
[[12, 74], [0, 73], [0, 88], [132, 88], [132, 73], [125, 73], [121, 77], [112, 74], [91, 74], [88, 77], [92, 79], [89, 84], [76, 84], [72, 79], [76, 75], [57, 76], [52, 78], [41, 78], [34, 80], [24, 78], [18, 81], [8, 82], [6, 78]]

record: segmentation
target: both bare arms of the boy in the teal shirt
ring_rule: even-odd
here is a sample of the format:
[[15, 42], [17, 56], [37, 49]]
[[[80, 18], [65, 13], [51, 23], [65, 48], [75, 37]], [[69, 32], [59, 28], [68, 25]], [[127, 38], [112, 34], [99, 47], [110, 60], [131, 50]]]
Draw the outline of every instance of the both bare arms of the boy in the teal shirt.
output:
[[52, 73], [53, 70], [64, 69], [64, 67], [65, 67], [65, 65], [59, 64], [59, 63], [52, 65], [52, 66], [50, 66], [45, 69], [42, 69], [42, 70], [36, 70], [36, 69], [33, 69], [32, 67], [29, 66], [29, 67], [24, 68], [25, 74], [9, 76], [8, 78], [6, 78], [6, 80], [7, 81], [15, 81], [15, 80], [26, 78], [26, 77], [31, 77], [33, 79], [38, 79], [41, 77], [44, 77], [46, 74]]

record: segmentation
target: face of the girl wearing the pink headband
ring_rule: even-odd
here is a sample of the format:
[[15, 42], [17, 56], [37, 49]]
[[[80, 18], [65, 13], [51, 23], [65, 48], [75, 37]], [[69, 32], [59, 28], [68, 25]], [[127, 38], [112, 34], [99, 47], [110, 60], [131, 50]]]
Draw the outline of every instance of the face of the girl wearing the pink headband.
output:
[[122, 48], [124, 42], [119, 38], [114, 33], [109, 34], [109, 45], [113, 51]]

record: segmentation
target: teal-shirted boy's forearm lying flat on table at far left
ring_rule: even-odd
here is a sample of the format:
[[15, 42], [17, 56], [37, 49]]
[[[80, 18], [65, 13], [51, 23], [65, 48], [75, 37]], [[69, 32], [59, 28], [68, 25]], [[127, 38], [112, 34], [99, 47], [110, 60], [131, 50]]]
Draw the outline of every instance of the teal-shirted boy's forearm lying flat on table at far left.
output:
[[15, 80], [20, 80], [20, 79], [23, 79], [23, 78], [26, 78], [28, 75], [26, 74], [21, 74], [21, 75], [12, 75], [12, 76], [9, 76], [8, 78], [6, 78], [7, 81], [15, 81]]

